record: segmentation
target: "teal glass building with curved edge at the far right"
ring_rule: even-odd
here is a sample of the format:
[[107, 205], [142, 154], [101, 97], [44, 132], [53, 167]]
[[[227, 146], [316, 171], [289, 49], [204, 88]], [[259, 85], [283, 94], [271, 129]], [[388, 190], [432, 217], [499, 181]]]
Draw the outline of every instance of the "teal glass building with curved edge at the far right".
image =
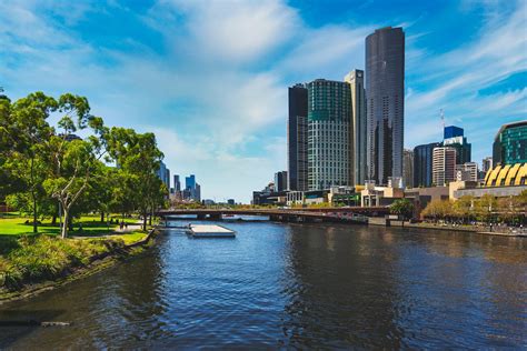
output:
[[501, 126], [493, 144], [494, 164], [527, 162], [527, 120]]

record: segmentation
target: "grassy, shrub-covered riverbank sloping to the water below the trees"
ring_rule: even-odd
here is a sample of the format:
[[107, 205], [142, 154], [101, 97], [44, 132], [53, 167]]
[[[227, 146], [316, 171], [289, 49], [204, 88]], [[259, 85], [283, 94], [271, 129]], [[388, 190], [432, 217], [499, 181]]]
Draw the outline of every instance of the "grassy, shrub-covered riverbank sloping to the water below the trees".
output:
[[[89, 277], [143, 251], [155, 229], [105, 238], [21, 237], [0, 252], [0, 304]], [[125, 238], [125, 239], [123, 239]], [[133, 239], [132, 239], [133, 238]]]

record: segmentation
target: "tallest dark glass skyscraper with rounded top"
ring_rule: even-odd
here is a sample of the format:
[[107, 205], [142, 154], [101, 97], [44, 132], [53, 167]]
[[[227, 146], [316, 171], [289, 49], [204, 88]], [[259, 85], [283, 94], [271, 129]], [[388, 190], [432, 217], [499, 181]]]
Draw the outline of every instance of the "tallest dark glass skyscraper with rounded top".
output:
[[379, 184], [402, 177], [405, 32], [381, 28], [366, 38], [368, 174]]

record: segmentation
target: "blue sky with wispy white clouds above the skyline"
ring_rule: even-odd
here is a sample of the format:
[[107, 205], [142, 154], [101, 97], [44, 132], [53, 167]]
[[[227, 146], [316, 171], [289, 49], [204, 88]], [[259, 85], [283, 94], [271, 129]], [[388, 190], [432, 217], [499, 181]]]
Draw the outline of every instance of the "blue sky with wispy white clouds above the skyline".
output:
[[473, 160], [527, 112], [527, 1], [0, 0], [0, 87], [88, 97], [151, 131], [202, 198], [249, 202], [287, 169], [287, 88], [364, 69], [365, 38], [406, 33], [405, 147], [465, 129]]

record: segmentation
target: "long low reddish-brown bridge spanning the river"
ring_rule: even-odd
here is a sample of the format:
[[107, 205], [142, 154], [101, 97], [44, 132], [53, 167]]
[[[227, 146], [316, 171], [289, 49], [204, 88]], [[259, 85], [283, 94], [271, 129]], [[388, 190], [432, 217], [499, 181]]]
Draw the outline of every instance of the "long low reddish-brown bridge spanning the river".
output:
[[368, 217], [389, 214], [388, 207], [300, 208], [300, 209], [170, 209], [159, 210], [161, 218], [196, 215], [199, 220], [221, 220], [228, 215], [264, 215], [284, 222], [367, 223]]

